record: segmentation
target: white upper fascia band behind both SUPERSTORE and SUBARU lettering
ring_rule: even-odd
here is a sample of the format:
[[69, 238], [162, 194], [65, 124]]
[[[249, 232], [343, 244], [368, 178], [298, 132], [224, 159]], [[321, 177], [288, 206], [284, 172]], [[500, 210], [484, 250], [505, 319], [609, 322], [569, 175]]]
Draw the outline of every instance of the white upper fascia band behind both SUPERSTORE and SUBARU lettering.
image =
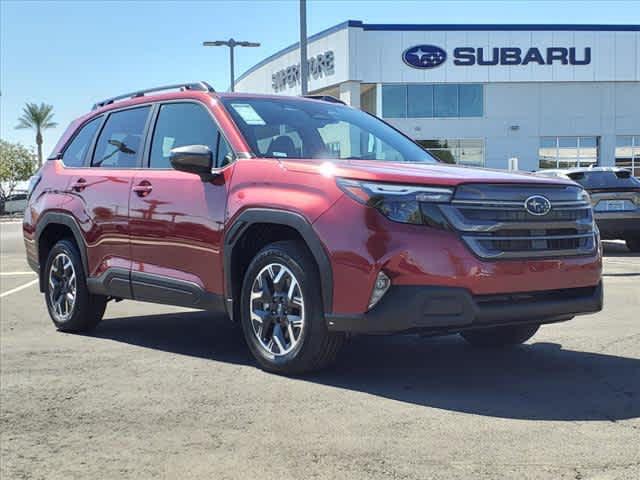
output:
[[[420, 44], [436, 45], [447, 51], [446, 62], [436, 68], [417, 69], [406, 65], [402, 53]], [[524, 53], [536, 47], [545, 56], [549, 47], [575, 47], [578, 59], [591, 49], [589, 65], [472, 65], [454, 64], [457, 47], [519, 47]], [[335, 71], [309, 81], [309, 91], [345, 81], [365, 83], [511, 83], [511, 82], [638, 82], [640, 81], [640, 32], [626, 31], [371, 31], [360, 27], [329, 29], [310, 37], [308, 56], [333, 51]], [[299, 84], [275, 92], [272, 75], [300, 60], [295, 45], [261, 62], [243, 74], [237, 91], [299, 94]]]

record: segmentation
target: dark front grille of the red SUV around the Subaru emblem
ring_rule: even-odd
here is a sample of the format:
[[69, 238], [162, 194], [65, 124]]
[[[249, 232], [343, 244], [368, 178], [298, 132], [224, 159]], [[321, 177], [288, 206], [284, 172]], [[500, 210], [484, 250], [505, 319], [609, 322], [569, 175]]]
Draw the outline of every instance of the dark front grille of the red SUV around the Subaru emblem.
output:
[[[531, 195], [551, 202], [546, 215], [525, 209]], [[548, 185], [463, 185], [440, 209], [471, 250], [485, 259], [592, 254], [593, 213], [582, 189]]]

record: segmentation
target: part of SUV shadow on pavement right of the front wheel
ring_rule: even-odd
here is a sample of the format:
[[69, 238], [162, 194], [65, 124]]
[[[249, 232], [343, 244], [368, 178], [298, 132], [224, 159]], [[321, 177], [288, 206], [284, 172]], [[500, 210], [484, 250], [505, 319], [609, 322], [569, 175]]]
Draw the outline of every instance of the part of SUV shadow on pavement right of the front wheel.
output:
[[[544, 327], [543, 327], [544, 328]], [[444, 410], [526, 420], [640, 417], [640, 360], [535, 343], [473, 348], [461, 337], [361, 337], [314, 381]]]

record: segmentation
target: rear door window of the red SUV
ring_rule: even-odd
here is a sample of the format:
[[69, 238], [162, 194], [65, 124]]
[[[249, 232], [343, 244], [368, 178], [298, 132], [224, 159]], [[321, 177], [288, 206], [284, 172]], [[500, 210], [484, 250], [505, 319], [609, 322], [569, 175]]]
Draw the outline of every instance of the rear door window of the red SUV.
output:
[[136, 168], [150, 107], [114, 112], [100, 132], [92, 167]]

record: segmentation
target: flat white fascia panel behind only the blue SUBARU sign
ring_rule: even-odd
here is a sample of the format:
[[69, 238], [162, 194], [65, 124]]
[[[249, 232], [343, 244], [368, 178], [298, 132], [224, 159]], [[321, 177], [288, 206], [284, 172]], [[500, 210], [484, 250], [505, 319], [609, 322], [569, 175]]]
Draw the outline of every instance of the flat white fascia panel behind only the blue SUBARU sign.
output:
[[[352, 28], [353, 78], [382, 83], [503, 83], [503, 82], [607, 82], [640, 81], [640, 32], [569, 31], [367, 31]], [[402, 53], [414, 45], [435, 45], [446, 50], [446, 62], [431, 69], [406, 65]], [[538, 48], [575, 47], [577, 58], [591, 49], [589, 65], [472, 65], [453, 62], [457, 47], [519, 47], [524, 53]]]

